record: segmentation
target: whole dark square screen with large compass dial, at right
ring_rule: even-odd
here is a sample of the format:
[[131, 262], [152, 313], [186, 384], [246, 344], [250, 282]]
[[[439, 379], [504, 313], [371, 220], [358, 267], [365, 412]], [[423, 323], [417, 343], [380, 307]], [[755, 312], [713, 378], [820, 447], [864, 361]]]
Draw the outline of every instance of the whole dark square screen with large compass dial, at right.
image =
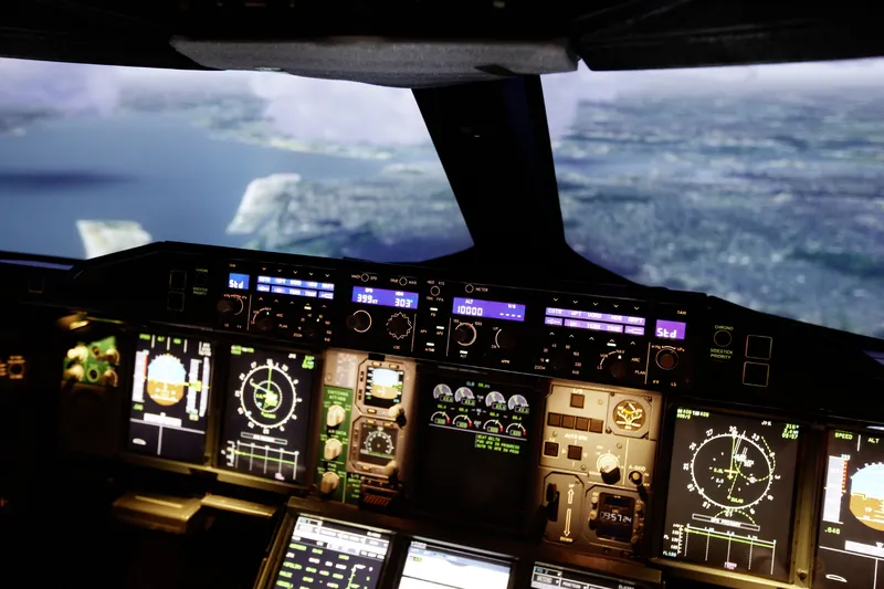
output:
[[799, 428], [680, 408], [663, 556], [786, 580]]

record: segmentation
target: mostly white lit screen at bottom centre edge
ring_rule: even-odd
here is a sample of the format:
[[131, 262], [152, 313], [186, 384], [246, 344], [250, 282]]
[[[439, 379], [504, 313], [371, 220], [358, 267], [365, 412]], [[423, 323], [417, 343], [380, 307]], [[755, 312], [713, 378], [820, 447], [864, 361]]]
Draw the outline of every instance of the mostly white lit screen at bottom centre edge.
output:
[[413, 540], [399, 589], [506, 589], [511, 570], [506, 562]]

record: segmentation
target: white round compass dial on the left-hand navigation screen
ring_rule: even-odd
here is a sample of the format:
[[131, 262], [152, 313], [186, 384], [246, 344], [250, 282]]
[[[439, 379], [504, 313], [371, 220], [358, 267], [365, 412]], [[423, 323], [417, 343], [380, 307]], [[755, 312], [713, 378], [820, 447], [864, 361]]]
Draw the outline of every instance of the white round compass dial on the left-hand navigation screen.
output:
[[286, 365], [272, 359], [252, 362], [252, 369], [240, 375], [240, 381], [235, 397], [239, 412], [249, 420], [250, 428], [261, 428], [265, 433], [273, 429], [285, 431], [286, 423], [296, 419], [298, 381], [288, 375]]

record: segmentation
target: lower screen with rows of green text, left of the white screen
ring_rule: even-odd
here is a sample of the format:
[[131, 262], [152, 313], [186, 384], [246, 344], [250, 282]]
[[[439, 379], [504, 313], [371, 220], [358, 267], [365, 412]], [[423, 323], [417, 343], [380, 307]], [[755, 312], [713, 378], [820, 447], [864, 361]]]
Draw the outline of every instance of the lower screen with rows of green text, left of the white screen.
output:
[[390, 535], [302, 515], [274, 587], [375, 589]]

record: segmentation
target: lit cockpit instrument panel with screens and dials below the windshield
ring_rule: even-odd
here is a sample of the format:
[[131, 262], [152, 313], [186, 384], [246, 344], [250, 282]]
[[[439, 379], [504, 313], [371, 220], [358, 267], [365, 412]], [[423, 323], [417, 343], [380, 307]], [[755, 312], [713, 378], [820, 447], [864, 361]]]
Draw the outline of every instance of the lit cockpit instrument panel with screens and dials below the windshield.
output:
[[[290, 544], [334, 555], [284, 553], [277, 586], [337, 579], [335, 555], [357, 550], [346, 574], [364, 587], [877, 589], [875, 425], [832, 418], [812, 391], [781, 399], [786, 346], [757, 317], [741, 327], [678, 293], [229, 255], [141, 260], [162, 304], [146, 291], [137, 307], [86, 304], [77, 286], [128, 265], [81, 269], [66, 304], [45, 305], [75, 317], [48, 328], [65, 403], [119, 391], [78, 425], [122, 428], [122, 462], [312, 506]], [[27, 381], [27, 355], [3, 353]]]

